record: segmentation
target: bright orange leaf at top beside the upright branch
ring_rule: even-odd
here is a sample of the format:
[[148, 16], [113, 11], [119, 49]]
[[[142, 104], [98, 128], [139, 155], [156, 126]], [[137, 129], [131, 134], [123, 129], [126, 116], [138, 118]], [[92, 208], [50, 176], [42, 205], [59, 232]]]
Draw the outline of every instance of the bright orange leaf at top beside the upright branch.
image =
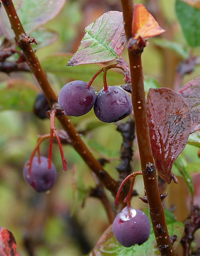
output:
[[138, 39], [155, 37], [165, 32], [144, 5], [135, 4], [132, 22], [132, 37]]

